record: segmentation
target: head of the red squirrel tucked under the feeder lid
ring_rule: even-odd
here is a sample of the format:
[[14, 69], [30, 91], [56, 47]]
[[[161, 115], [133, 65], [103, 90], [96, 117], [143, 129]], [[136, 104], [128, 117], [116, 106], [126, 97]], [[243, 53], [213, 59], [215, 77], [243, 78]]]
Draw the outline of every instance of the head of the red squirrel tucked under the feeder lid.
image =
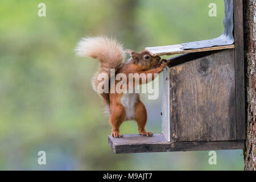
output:
[[138, 64], [144, 70], [159, 67], [159, 56], [151, 56], [147, 51], [135, 52], [132, 50], [127, 50], [130, 53], [133, 63]]

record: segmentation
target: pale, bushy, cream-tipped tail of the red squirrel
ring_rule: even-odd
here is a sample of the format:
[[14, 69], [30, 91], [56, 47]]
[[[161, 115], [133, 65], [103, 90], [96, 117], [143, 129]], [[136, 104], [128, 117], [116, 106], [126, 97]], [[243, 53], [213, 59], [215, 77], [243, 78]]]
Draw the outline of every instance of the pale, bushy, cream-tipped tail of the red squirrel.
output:
[[[76, 55], [92, 57], [100, 61], [100, 67], [92, 78], [93, 89], [96, 92], [98, 84], [102, 82], [101, 80], [97, 80], [98, 75], [106, 73], [110, 79], [110, 69], [117, 71], [117, 69], [122, 66], [123, 60], [125, 59], [125, 51], [122, 44], [119, 44], [113, 38], [107, 38], [105, 36], [82, 38], [77, 44], [75, 51]], [[109, 84], [109, 80], [107, 84]], [[109, 94], [101, 93], [100, 95], [105, 104], [109, 105]]]

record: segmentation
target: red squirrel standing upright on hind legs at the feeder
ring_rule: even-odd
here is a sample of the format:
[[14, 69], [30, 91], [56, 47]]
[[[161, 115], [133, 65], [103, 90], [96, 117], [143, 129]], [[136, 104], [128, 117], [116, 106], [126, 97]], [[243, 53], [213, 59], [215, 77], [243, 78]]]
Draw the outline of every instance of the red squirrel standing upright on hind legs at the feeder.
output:
[[[109, 80], [107, 81], [109, 84], [110, 69], [114, 69], [115, 75], [123, 73], [127, 77], [129, 77], [129, 73], [144, 73], [146, 75], [146, 80], [144, 81], [147, 83], [148, 75], [151, 75], [150, 81], [154, 80], [154, 73], [162, 72], [164, 67], [167, 65], [167, 61], [165, 59], [160, 59], [159, 56], [151, 56], [147, 51], [125, 51], [122, 45], [115, 39], [110, 39], [104, 36], [81, 39], [77, 44], [75, 51], [79, 56], [92, 57], [100, 61], [98, 71], [92, 78], [93, 89], [97, 93], [99, 93], [98, 85], [102, 82], [98, 77], [101, 73], [105, 73], [108, 75]], [[124, 63], [123, 61], [125, 60], [126, 52], [130, 53], [131, 58]], [[139, 79], [139, 84], [142, 84], [143, 78]], [[115, 81], [114, 83], [116, 85], [118, 81]], [[133, 86], [135, 86], [134, 83]], [[128, 82], [127, 88], [129, 88]], [[122, 134], [119, 133], [119, 127], [123, 121], [130, 119], [137, 121], [139, 134], [142, 136], [152, 137], [152, 132], [145, 130], [147, 111], [143, 102], [139, 99], [139, 93], [105, 92], [99, 94], [106, 105], [106, 110], [109, 113], [109, 120], [112, 125], [112, 137], [122, 137]]]

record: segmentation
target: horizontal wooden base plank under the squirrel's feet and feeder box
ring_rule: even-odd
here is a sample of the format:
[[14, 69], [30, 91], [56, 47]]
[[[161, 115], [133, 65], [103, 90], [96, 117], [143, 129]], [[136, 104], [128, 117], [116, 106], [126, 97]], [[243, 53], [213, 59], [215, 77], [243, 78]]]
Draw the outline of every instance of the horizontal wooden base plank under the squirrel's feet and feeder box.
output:
[[200, 150], [234, 150], [243, 149], [244, 140], [218, 142], [167, 142], [162, 134], [153, 137], [142, 137], [139, 134], [123, 135], [113, 138], [109, 135], [109, 146], [116, 154], [138, 152], [171, 152], [171, 151], [200, 151]]

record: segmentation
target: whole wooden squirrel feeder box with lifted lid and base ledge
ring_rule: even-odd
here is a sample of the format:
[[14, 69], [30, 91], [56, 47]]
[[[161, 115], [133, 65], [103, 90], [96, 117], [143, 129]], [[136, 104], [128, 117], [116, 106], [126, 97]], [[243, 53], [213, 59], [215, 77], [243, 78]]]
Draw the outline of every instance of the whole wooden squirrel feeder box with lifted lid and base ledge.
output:
[[114, 152], [244, 148], [242, 1], [225, 0], [219, 38], [146, 50], [154, 56], [183, 53], [171, 58], [162, 74], [162, 134], [109, 136]]

